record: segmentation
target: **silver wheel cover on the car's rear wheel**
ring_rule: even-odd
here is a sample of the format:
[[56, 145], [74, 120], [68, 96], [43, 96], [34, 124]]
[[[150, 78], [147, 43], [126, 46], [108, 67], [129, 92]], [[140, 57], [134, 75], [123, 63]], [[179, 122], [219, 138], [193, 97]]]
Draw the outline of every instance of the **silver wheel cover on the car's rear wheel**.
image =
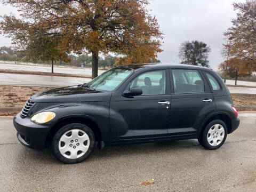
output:
[[220, 124], [213, 125], [207, 133], [207, 141], [211, 146], [218, 146], [225, 137], [224, 127]]

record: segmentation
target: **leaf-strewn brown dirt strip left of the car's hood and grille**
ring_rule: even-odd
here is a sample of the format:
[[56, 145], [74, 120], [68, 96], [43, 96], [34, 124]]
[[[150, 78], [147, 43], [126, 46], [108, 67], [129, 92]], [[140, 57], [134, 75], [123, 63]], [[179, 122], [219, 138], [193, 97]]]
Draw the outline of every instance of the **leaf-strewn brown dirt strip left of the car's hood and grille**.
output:
[[0, 107], [22, 107], [28, 98], [54, 87], [0, 86]]

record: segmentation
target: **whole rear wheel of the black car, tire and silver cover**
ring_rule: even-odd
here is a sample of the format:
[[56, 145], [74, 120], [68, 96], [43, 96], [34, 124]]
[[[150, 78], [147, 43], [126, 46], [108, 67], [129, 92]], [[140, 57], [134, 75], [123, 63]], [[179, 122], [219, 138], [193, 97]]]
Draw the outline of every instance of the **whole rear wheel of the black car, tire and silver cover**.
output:
[[206, 149], [215, 150], [220, 148], [227, 138], [226, 124], [217, 119], [210, 122], [204, 132], [198, 138], [198, 142]]

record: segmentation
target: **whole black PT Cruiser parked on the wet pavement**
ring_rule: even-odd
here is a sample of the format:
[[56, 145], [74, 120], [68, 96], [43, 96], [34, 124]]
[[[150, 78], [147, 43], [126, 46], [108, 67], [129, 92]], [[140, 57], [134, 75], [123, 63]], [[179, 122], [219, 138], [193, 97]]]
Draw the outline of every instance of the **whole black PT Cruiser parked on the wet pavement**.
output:
[[131, 65], [91, 82], [29, 98], [13, 123], [19, 141], [51, 147], [78, 163], [95, 147], [198, 139], [218, 149], [239, 125], [230, 93], [214, 71], [189, 65]]

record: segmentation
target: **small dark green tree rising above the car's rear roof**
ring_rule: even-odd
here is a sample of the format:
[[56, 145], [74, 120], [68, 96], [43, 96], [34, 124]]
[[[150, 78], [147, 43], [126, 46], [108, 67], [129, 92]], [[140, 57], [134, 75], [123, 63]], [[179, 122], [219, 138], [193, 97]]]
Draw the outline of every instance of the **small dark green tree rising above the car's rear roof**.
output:
[[209, 67], [210, 47], [203, 42], [185, 41], [180, 45], [179, 57], [182, 64]]

